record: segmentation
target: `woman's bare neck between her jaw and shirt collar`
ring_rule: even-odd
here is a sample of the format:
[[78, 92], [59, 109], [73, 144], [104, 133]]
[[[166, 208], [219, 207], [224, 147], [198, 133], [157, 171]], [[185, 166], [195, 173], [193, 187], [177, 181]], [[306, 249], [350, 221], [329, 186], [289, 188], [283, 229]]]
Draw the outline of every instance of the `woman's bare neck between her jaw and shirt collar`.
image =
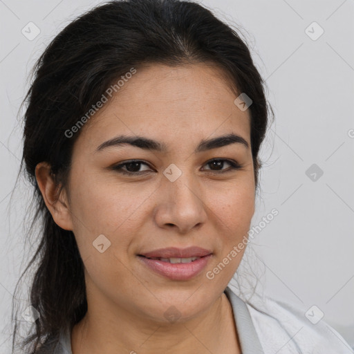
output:
[[153, 322], [124, 308], [90, 307], [71, 335], [73, 354], [241, 353], [232, 306], [225, 293], [186, 322]]

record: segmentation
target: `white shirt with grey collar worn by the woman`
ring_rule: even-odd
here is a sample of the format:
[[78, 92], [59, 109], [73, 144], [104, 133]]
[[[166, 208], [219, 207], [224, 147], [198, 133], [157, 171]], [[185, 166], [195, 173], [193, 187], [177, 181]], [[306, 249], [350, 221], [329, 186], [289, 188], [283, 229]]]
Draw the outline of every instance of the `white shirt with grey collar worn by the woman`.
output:
[[[257, 299], [257, 295], [257, 301], [250, 304], [230, 286], [225, 294], [232, 305], [242, 354], [354, 354], [335, 329], [322, 319], [311, 323], [304, 309], [270, 297]], [[52, 352], [73, 354], [68, 328], [60, 336], [59, 347]]]

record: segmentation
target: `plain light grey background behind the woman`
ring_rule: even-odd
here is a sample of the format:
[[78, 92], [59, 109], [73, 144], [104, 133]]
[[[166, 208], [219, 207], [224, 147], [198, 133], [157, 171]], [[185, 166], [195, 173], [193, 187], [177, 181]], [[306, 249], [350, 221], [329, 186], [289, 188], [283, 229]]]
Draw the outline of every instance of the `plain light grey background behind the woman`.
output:
[[[275, 113], [261, 151], [261, 198], [252, 220], [258, 225], [272, 208], [279, 210], [252, 243], [265, 268], [265, 293], [306, 309], [315, 304], [354, 346], [354, 3], [201, 2], [241, 27]], [[28, 185], [21, 182], [11, 194], [26, 79], [59, 30], [98, 3], [0, 0], [0, 353], [9, 353], [12, 293], [26, 264], [22, 258], [30, 254], [22, 220]], [[21, 33], [30, 21], [40, 29], [32, 41]], [[313, 21], [324, 30], [317, 40], [306, 34]], [[309, 28], [313, 35], [318, 30]], [[324, 172], [317, 180], [306, 175], [313, 164]]]

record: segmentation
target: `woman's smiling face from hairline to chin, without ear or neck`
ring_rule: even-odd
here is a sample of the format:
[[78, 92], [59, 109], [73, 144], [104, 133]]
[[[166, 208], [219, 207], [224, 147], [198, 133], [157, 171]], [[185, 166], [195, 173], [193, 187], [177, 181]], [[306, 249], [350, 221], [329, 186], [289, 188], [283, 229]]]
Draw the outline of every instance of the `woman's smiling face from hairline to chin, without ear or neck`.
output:
[[[82, 128], [68, 207], [89, 304], [166, 322], [167, 314], [192, 319], [220, 297], [244, 249], [230, 254], [254, 214], [250, 113], [235, 99], [216, 68], [156, 64], [137, 68]], [[248, 147], [226, 139], [205, 143], [230, 134]], [[122, 136], [155, 143], [115, 144]], [[115, 168], [129, 160], [139, 163]], [[241, 167], [232, 169], [228, 161]], [[190, 246], [212, 255], [198, 265], [142, 257]]]

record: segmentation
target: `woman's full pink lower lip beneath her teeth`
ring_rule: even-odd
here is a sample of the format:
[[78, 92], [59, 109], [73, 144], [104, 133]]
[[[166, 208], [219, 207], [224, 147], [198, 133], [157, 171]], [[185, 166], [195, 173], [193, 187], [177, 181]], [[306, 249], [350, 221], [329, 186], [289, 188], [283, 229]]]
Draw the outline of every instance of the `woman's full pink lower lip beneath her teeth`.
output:
[[207, 262], [212, 257], [212, 254], [208, 254], [205, 257], [201, 257], [200, 259], [189, 263], [169, 263], [160, 261], [159, 259], [149, 259], [142, 256], [138, 257], [151, 270], [163, 275], [164, 277], [173, 280], [188, 280], [196, 277], [196, 275], [206, 267]]

